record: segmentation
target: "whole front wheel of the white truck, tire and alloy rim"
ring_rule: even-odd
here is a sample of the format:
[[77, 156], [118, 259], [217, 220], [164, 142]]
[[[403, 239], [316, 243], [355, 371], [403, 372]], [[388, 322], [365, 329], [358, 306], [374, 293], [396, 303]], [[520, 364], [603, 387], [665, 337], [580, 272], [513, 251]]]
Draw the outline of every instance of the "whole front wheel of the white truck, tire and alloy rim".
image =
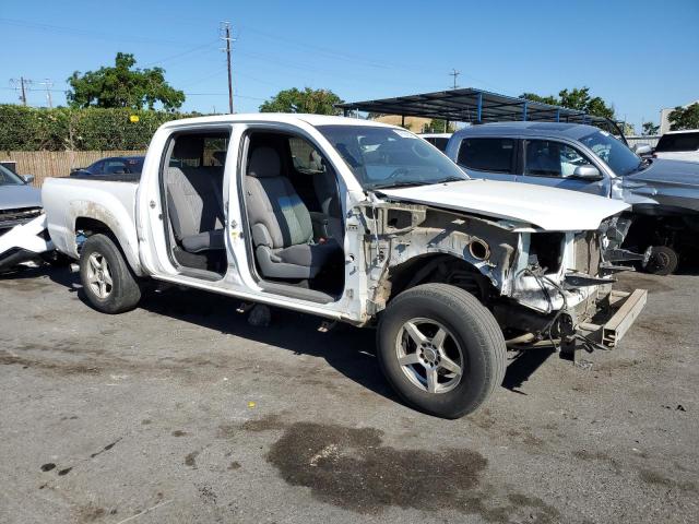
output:
[[459, 418], [502, 383], [506, 345], [493, 314], [470, 293], [425, 284], [401, 293], [378, 330], [381, 371], [419, 410]]

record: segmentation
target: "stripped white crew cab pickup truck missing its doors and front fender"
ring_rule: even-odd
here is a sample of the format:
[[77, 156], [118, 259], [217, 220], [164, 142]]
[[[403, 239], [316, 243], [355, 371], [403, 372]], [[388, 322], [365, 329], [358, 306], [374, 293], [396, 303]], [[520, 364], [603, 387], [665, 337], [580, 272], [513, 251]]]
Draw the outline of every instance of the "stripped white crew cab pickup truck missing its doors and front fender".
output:
[[508, 342], [614, 347], [645, 301], [607, 277], [623, 202], [471, 180], [416, 135], [370, 121], [168, 122], [138, 183], [49, 179], [43, 199], [95, 309], [132, 309], [159, 281], [244, 310], [374, 325], [388, 381], [441, 417], [486, 401]]

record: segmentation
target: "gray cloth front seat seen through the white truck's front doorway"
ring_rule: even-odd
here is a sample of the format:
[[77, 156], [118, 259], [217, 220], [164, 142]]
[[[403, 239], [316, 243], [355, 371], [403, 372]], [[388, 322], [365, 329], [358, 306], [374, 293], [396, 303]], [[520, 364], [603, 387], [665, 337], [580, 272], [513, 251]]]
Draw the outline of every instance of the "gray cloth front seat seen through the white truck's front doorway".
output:
[[341, 255], [336, 242], [313, 242], [308, 209], [282, 174], [272, 147], [252, 151], [246, 176], [246, 204], [254, 253], [263, 276], [312, 278]]

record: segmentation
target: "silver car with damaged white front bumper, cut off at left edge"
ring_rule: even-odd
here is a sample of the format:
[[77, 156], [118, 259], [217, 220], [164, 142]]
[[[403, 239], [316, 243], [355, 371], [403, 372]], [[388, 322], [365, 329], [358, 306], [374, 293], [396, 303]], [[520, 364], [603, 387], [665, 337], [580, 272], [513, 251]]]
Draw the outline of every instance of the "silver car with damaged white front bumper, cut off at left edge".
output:
[[0, 272], [42, 260], [54, 249], [46, 231], [42, 193], [31, 175], [0, 166]]

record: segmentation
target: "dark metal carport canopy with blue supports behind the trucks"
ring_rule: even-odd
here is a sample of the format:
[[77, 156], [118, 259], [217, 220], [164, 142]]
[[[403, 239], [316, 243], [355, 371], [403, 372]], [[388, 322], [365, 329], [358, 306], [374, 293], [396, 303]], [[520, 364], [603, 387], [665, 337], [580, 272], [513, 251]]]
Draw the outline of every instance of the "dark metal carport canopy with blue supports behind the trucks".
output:
[[499, 95], [466, 87], [419, 95], [399, 96], [377, 100], [336, 104], [346, 115], [350, 111], [378, 112], [402, 117], [437, 118], [455, 122], [487, 123], [513, 120], [589, 123], [621, 134], [618, 122], [588, 115], [577, 109], [552, 106], [541, 102]]

